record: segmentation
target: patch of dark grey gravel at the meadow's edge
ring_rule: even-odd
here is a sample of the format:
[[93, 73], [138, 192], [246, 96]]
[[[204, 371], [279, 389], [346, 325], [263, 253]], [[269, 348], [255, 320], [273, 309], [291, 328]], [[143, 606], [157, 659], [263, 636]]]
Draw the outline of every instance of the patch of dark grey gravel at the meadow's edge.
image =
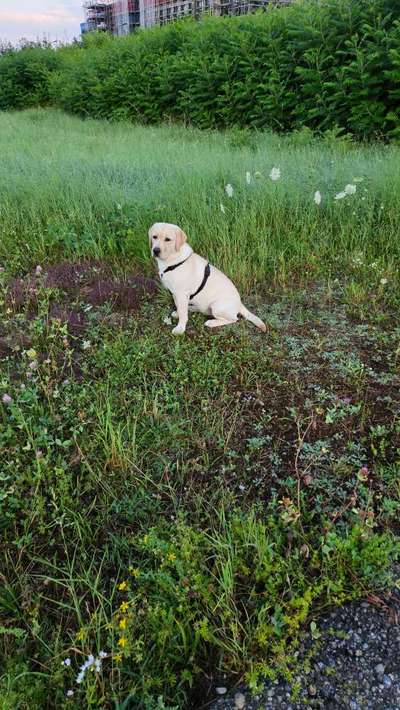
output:
[[[388, 609], [367, 602], [334, 609], [317, 623], [318, 641], [307, 635], [299, 648], [299, 674], [293, 683], [268, 681], [264, 691], [251, 696], [248, 688], [230, 689], [211, 710], [400, 710], [400, 593], [394, 591]], [[302, 659], [310, 653], [311, 670]], [[301, 690], [292, 698], [292, 686]], [[239, 702], [238, 702], [239, 700]]]

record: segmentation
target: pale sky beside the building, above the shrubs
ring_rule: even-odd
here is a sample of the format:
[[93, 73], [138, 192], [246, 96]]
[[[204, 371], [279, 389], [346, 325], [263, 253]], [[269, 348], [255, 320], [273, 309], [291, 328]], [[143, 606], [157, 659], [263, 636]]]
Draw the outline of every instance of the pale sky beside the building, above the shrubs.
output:
[[0, 40], [71, 41], [83, 17], [81, 0], [0, 0]]

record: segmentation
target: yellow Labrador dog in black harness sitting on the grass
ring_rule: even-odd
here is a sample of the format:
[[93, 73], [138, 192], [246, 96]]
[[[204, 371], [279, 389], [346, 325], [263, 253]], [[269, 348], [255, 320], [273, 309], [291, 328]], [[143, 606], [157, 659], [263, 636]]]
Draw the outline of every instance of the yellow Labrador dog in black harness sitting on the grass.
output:
[[172, 316], [178, 318], [178, 325], [174, 335], [185, 332], [189, 311], [212, 316], [205, 323], [209, 328], [235, 323], [241, 315], [265, 333], [265, 323], [243, 305], [232, 281], [194, 253], [180, 227], [157, 222], [149, 229], [149, 240], [161, 282], [175, 301]]

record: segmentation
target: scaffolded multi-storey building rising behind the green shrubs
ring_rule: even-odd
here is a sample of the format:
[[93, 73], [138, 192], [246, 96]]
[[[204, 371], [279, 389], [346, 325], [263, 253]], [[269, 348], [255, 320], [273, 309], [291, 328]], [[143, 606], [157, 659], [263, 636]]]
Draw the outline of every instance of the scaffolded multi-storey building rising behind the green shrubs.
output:
[[82, 34], [103, 30], [126, 35], [138, 27], [164, 25], [182, 17], [211, 15], [245, 15], [274, 5], [288, 5], [292, 0], [85, 0], [86, 21]]

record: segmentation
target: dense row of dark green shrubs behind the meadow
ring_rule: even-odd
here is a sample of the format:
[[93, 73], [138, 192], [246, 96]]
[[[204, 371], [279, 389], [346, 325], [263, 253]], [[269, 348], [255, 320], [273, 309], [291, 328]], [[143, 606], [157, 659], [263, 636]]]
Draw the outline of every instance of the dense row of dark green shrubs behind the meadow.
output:
[[0, 108], [400, 137], [398, 0], [306, 0], [0, 59]]

